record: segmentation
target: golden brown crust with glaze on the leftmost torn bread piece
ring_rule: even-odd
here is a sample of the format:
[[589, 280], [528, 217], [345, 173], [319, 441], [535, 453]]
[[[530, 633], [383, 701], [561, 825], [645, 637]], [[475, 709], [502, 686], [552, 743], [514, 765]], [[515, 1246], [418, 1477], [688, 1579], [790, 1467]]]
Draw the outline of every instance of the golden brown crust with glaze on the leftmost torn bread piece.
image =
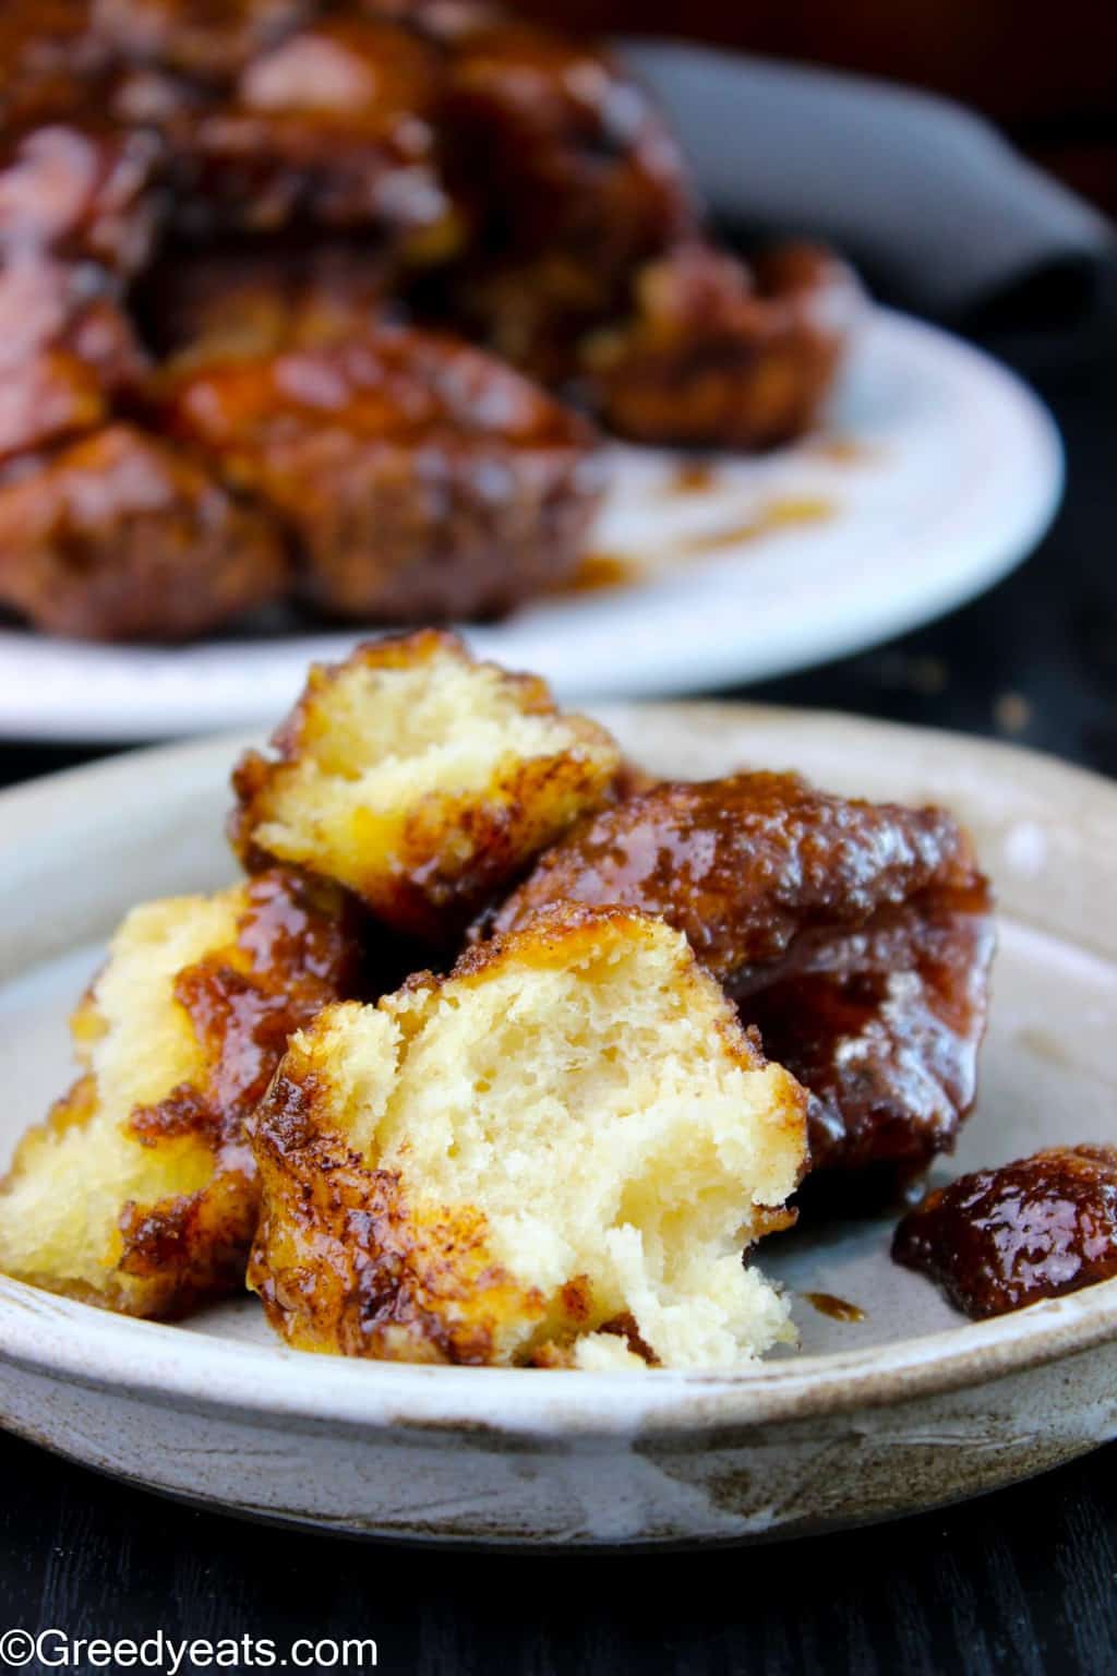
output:
[[[196, 1173], [186, 1163], [193, 1156], [204, 1185], [154, 1203], [121, 1205], [119, 1249], [95, 1287], [57, 1272], [25, 1279], [89, 1302], [162, 1317], [236, 1291], [258, 1212], [245, 1121], [271, 1081], [288, 1034], [358, 985], [357, 929], [353, 905], [320, 882], [280, 868], [250, 882], [236, 942], [174, 980], [174, 1004], [188, 1016], [201, 1053], [199, 1074], [157, 1103], [136, 1106], [126, 1125], [152, 1160], [166, 1155], [167, 1180]], [[111, 1027], [99, 1017], [95, 984], [82, 1011], [75, 1034], [95, 1039]], [[85, 1074], [54, 1106], [45, 1128], [62, 1135], [89, 1123], [97, 1103], [97, 1078]], [[20, 1143], [7, 1190], [42, 1168], [42, 1133], [32, 1130]], [[12, 1245], [10, 1237], [5, 1245]]]

